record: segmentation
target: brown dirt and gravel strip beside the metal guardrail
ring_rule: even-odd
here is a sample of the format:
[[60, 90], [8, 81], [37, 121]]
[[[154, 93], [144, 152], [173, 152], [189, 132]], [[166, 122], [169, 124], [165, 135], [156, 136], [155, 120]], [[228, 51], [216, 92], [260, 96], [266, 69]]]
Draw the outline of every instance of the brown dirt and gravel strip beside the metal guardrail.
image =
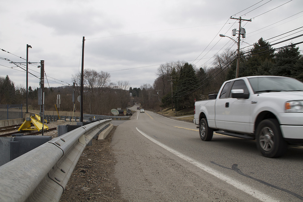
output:
[[61, 202], [127, 202], [121, 198], [117, 180], [113, 177], [115, 157], [110, 144], [116, 127], [105, 140], [93, 139], [92, 146], [85, 147], [61, 196]]

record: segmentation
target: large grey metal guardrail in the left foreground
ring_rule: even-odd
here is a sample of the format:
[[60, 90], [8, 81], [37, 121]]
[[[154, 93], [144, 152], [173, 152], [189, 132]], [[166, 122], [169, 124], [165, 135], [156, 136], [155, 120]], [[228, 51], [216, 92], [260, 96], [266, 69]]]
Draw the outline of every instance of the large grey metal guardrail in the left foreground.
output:
[[0, 167], [0, 201], [59, 201], [85, 146], [112, 119], [84, 125]]

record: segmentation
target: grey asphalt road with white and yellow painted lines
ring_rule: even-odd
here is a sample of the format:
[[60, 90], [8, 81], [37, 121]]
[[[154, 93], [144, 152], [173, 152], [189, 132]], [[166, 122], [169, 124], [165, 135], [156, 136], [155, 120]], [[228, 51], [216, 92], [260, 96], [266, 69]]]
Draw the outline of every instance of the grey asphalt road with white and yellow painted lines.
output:
[[266, 158], [255, 141], [214, 134], [204, 142], [196, 125], [150, 111], [120, 124], [112, 146], [129, 201], [303, 200], [302, 147]]

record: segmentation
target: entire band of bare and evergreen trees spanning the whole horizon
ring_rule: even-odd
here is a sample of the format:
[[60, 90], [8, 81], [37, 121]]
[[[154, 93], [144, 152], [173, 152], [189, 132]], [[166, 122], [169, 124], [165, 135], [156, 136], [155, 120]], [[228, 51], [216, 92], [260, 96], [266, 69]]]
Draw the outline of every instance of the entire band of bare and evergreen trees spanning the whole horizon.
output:
[[[156, 72], [153, 85], [142, 84], [132, 88], [128, 81], [111, 82], [108, 72], [84, 70], [84, 113], [111, 115], [112, 108], [125, 109], [131, 104], [140, 103], [142, 108], [161, 110], [173, 106], [176, 111], [194, 106], [194, 101], [208, 99], [209, 94], [219, 91], [222, 83], [235, 78], [236, 51], [225, 50], [215, 55], [211, 66], [195, 65], [184, 61], [171, 61], [161, 64]], [[270, 43], [260, 38], [251, 49], [242, 50], [240, 55], [239, 77], [253, 75], [288, 76], [303, 81], [303, 57], [294, 44], [274, 49]], [[60, 111], [80, 111], [77, 97], [80, 95], [80, 73], [72, 75], [73, 86], [46, 88], [45, 110], [55, 111], [57, 94], [61, 94]], [[72, 102], [75, 90], [75, 106]], [[0, 104], [23, 104], [26, 89], [15, 87], [6, 77], [0, 76]], [[38, 88], [28, 88], [29, 109], [38, 110]]]

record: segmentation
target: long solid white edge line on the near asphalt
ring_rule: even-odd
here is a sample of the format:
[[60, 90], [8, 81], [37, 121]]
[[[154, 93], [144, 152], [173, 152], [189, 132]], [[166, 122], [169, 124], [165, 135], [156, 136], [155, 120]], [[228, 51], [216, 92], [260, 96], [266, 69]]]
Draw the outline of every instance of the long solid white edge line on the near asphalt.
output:
[[231, 177], [228, 177], [225, 174], [222, 174], [214, 169], [212, 169], [211, 167], [208, 167], [204, 164], [201, 164], [200, 162], [192, 159], [191, 157], [185, 156], [184, 154], [179, 153], [178, 151], [166, 146], [165, 144], [162, 144], [161, 142], [149, 137], [147, 134], [145, 134], [144, 132], [140, 131], [137, 127], [136, 127], [137, 131], [139, 133], [141, 133], [142, 135], [144, 135], [146, 138], [148, 138], [150, 141], [158, 144], [159, 146], [163, 147], [164, 149], [166, 149], [167, 151], [171, 152], [172, 154], [175, 154], [176, 156], [180, 157], [181, 159], [195, 165], [196, 167], [200, 168], [201, 170], [214, 175], [215, 177], [218, 177], [220, 180], [225, 181], [226, 183], [238, 188], [241, 191], [244, 191], [245, 193], [251, 195], [252, 197], [255, 197], [256, 199], [260, 200], [260, 201], [279, 201], [277, 199], [274, 199], [258, 190], [253, 189], [252, 187], [243, 184], [237, 180], [232, 179]]

